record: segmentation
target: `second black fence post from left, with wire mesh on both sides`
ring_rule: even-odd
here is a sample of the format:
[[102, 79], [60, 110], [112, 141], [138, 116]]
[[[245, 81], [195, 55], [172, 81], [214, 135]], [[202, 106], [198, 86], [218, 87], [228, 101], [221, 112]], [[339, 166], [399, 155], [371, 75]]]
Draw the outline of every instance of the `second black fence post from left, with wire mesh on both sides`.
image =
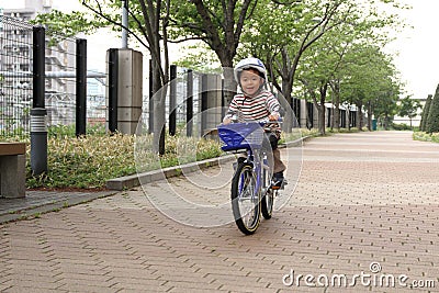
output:
[[76, 41], [76, 136], [86, 135], [87, 40]]

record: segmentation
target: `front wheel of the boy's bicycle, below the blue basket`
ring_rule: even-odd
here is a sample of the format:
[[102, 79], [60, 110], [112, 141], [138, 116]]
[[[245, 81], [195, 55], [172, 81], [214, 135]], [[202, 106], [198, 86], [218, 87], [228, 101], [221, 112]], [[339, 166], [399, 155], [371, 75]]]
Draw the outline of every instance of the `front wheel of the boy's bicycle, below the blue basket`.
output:
[[236, 225], [246, 235], [254, 234], [260, 222], [260, 192], [256, 185], [252, 166], [239, 164], [232, 180], [232, 210]]

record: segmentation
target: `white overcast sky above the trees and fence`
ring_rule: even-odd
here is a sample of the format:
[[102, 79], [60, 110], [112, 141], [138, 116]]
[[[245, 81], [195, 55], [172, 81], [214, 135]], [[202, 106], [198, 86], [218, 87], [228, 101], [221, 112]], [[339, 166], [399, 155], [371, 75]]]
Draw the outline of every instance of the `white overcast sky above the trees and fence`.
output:
[[[52, 1], [55, 9], [69, 12], [80, 10], [79, 0], [44, 0]], [[367, 1], [367, 0], [365, 0]], [[406, 23], [414, 29], [405, 29], [396, 34], [396, 41], [385, 48], [395, 54], [394, 64], [401, 72], [401, 79], [406, 83], [405, 95], [416, 99], [425, 99], [434, 94], [439, 83], [439, 54], [436, 47], [439, 22], [438, 0], [399, 0], [413, 7], [409, 11], [401, 13]], [[24, 0], [0, 0], [0, 8], [24, 7]], [[108, 48], [122, 45], [117, 35], [111, 32], [100, 32], [92, 36], [83, 36], [88, 40], [88, 67], [105, 70], [105, 52]], [[171, 52], [170, 56], [176, 56]]]

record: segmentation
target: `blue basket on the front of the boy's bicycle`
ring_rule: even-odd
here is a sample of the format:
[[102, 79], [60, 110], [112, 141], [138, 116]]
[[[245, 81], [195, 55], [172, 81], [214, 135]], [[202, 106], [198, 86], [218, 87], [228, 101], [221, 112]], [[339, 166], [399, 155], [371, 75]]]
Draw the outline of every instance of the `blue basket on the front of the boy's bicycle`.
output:
[[233, 123], [218, 126], [218, 136], [225, 144], [223, 150], [259, 148], [262, 146], [263, 128], [259, 123]]

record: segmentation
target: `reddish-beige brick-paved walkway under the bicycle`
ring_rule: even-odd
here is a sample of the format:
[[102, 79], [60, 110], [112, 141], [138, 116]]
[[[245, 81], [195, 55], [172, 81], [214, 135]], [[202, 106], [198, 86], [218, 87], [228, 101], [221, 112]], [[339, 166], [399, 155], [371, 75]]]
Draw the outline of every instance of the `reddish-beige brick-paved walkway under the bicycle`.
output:
[[215, 225], [219, 166], [0, 226], [0, 291], [439, 291], [439, 145], [376, 132], [282, 151], [282, 209], [252, 236]]

